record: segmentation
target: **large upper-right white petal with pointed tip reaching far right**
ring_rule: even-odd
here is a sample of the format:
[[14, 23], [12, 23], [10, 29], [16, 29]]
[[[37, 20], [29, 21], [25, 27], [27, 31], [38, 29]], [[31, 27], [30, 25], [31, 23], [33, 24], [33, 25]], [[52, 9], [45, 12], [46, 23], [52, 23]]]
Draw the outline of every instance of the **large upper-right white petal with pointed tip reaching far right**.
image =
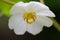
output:
[[27, 5], [27, 9], [28, 9], [28, 11], [36, 12], [37, 15], [40, 15], [40, 16], [55, 17], [54, 13], [52, 11], [50, 11], [48, 6], [46, 6], [40, 2], [34, 2], [34, 1], [30, 2]]

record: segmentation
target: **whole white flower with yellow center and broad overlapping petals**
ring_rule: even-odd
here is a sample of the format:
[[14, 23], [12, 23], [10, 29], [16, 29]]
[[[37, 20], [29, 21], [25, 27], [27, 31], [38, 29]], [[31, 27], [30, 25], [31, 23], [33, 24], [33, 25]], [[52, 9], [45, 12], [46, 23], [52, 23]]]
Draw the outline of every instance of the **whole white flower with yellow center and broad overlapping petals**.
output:
[[34, 1], [16, 3], [10, 13], [12, 16], [8, 25], [17, 35], [23, 35], [26, 31], [36, 35], [42, 31], [43, 26], [50, 27], [53, 24], [48, 17], [55, 17], [46, 5]]

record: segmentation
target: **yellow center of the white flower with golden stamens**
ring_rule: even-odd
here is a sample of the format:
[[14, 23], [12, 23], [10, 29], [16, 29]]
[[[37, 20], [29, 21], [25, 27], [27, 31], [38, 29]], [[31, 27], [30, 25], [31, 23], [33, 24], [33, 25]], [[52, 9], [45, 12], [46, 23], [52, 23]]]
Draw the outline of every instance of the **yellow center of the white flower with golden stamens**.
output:
[[32, 24], [36, 19], [36, 14], [35, 12], [25, 12], [23, 18], [28, 24]]

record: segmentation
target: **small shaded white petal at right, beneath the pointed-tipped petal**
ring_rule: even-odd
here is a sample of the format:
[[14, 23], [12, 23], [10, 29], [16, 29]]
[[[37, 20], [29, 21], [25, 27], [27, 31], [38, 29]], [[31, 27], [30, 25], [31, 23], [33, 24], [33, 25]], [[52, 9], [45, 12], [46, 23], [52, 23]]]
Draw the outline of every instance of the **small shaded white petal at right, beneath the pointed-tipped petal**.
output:
[[38, 17], [38, 20], [42, 23], [42, 25], [47, 26], [47, 27], [52, 26], [53, 21], [50, 18], [45, 17], [45, 16], [37, 16], [37, 17]]

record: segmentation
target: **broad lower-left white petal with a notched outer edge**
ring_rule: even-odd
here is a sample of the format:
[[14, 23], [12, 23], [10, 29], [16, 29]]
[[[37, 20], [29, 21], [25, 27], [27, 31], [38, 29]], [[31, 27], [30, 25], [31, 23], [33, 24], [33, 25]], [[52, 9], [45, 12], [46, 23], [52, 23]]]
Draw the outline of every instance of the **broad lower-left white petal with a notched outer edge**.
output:
[[12, 16], [9, 27], [13, 28], [17, 35], [23, 35], [26, 32], [25, 22], [20, 16]]

